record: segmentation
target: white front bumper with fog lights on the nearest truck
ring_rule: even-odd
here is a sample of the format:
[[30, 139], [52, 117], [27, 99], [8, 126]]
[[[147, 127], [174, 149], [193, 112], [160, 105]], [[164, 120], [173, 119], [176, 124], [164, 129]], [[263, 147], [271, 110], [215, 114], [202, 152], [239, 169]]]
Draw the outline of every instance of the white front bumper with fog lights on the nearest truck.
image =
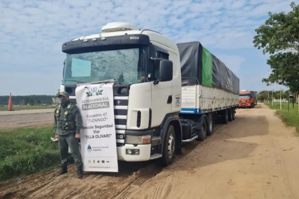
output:
[[[139, 149], [140, 153], [139, 155], [128, 155], [126, 154], [126, 149]], [[150, 159], [150, 149], [151, 144], [125, 144], [117, 147], [117, 159], [127, 162], [148, 161]]]

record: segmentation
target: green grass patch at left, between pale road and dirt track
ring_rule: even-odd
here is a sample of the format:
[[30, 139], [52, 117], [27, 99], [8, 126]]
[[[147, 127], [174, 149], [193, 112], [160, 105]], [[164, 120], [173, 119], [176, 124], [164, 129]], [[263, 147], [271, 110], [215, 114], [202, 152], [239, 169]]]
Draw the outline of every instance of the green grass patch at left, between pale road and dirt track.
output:
[[53, 127], [0, 130], [0, 181], [59, 165]]

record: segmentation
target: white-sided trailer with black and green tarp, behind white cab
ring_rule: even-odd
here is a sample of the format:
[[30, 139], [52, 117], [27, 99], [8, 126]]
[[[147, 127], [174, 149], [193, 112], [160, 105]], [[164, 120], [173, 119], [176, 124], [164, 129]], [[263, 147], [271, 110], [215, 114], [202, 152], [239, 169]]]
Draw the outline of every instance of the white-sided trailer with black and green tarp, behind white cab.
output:
[[203, 141], [213, 133], [215, 121], [226, 124], [235, 119], [239, 79], [200, 42], [179, 43], [177, 47], [182, 79], [179, 115], [183, 126], [192, 120], [197, 132], [190, 134], [183, 130], [183, 137], [188, 138], [183, 142]]

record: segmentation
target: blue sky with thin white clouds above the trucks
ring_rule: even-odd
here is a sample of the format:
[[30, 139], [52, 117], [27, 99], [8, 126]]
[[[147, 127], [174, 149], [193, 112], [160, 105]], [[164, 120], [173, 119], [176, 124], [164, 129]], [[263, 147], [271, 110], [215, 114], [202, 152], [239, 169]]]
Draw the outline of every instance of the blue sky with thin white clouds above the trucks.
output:
[[237, 75], [240, 90], [271, 90], [261, 82], [271, 73], [269, 55], [252, 41], [269, 11], [289, 12], [290, 4], [291, 0], [0, 0], [0, 96], [55, 95], [62, 83], [62, 44], [99, 33], [114, 21], [160, 32], [176, 43], [200, 41]]

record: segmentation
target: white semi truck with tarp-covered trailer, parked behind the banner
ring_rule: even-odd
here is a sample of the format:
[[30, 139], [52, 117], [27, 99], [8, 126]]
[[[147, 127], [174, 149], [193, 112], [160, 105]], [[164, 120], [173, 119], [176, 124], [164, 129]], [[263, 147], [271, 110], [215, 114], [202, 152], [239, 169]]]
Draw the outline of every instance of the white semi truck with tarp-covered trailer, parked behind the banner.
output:
[[[115, 79], [117, 155], [169, 165], [182, 143], [204, 140], [215, 121], [235, 118], [239, 79], [199, 42], [176, 44], [126, 22], [65, 42], [60, 91], [76, 102], [79, 83]], [[86, 62], [91, 63], [86, 66]]]

